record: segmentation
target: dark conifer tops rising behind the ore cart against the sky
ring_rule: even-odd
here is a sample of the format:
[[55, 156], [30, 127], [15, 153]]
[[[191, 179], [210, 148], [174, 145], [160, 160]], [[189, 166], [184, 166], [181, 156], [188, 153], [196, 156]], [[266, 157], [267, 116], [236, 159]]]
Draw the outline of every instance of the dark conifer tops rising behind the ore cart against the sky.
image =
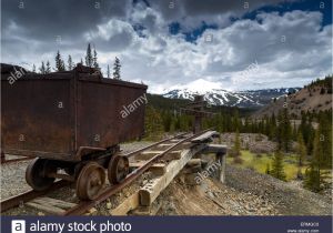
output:
[[[88, 47], [87, 47], [84, 62], [83, 62], [83, 59], [81, 58], [80, 63], [101, 71], [101, 68], [98, 63], [98, 52], [97, 52], [95, 48], [93, 48], [93, 49], [91, 48], [90, 43], [88, 43]], [[74, 69], [74, 67], [75, 67], [75, 63], [73, 62], [72, 57], [69, 54], [67, 62], [64, 62], [59, 50], [57, 51], [57, 54], [54, 57], [54, 64], [56, 64], [56, 67], [52, 68], [50, 64], [50, 61], [47, 61], [47, 62], [42, 61], [41, 65], [38, 68], [38, 71], [36, 69], [36, 65], [32, 64], [32, 72], [48, 74], [48, 73], [51, 73], [52, 71], [54, 71], [54, 72], [70, 71], [72, 69]], [[118, 79], [118, 80], [121, 79], [120, 68], [121, 68], [120, 59], [118, 57], [115, 57], [114, 63], [113, 63], [113, 73], [112, 73], [113, 79]], [[111, 78], [109, 64], [107, 65], [107, 78]]]

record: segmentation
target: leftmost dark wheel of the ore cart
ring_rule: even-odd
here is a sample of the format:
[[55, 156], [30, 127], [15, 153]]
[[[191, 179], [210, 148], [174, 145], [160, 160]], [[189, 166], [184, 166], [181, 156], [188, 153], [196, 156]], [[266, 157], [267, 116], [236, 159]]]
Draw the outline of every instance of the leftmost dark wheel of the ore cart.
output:
[[50, 161], [36, 158], [26, 170], [26, 181], [33, 190], [43, 191], [50, 188], [56, 180], [48, 178], [48, 174], [56, 172], [57, 168], [51, 165]]

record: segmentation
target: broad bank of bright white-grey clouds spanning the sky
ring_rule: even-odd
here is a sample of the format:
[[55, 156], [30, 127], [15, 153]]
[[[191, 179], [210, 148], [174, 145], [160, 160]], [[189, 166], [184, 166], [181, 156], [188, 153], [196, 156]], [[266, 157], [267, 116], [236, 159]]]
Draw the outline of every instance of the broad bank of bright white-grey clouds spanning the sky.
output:
[[[233, 11], [236, 8], [230, 7]], [[13, 63], [40, 63], [41, 59], [52, 61], [60, 49], [65, 59], [72, 54], [74, 62], [79, 62], [90, 41], [97, 47], [104, 72], [117, 55], [122, 62], [123, 79], [142, 80], [150, 85], [151, 92], [159, 93], [188, 83], [189, 87], [191, 83], [195, 87], [216, 83], [228, 90], [300, 87], [319, 75], [332, 73], [332, 24], [321, 27], [321, 12], [260, 13], [255, 20], [231, 23], [228, 10], [211, 17], [195, 9], [188, 11], [191, 16], [184, 21], [175, 18], [182, 30], [200, 27], [203, 19], [219, 28], [205, 30], [191, 43], [181, 33], [169, 33], [171, 12], [139, 3], [128, 9], [125, 17], [109, 17], [82, 32], [79, 42], [78, 36], [75, 40], [63, 38], [62, 44], [26, 39], [22, 28], [12, 24], [4, 31], [6, 40], [17, 42], [8, 43], [2, 58]], [[179, 17], [186, 10], [180, 7], [174, 12]], [[144, 37], [138, 37], [133, 24], [144, 27], [140, 31]], [[211, 42], [206, 41], [208, 37], [212, 37]], [[258, 62], [258, 70], [244, 72], [253, 62]]]

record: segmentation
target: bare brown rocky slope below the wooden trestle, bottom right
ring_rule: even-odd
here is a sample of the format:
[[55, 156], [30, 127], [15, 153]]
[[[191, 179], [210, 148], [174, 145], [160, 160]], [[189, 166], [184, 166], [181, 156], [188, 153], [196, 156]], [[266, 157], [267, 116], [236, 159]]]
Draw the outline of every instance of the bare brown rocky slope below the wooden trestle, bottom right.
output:
[[206, 179], [200, 186], [173, 181], [160, 195], [158, 215], [331, 215], [327, 196], [259, 174], [226, 166], [226, 183]]

